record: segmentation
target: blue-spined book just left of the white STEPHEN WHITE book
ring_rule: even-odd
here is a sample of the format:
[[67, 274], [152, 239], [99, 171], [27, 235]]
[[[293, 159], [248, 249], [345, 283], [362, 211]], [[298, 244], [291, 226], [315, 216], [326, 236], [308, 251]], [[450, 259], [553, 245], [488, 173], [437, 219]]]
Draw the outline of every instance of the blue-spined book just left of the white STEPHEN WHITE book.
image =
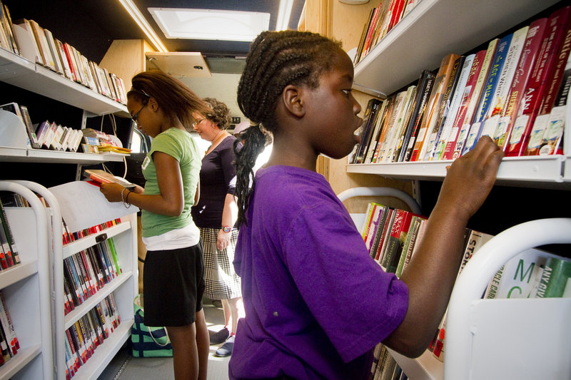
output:
[[473, 123], [470, 125], [470, 130], [468, 130], [468, 136], [462, 154], [472, 150], [477, 144], [477, 141], [480, 140], [486, 116], [490, 107], [492, 107], [495, 89], [497, 84], [500, 83], [500, 77], [502, 76], [502, 70], [507, 58], [507, 52], [510, 50], [513, 35], [514, 34], [508, 34], [497, 43], [494, 58], [492, 58], [490, 63], [490, 72], [487, 74], [484, 87], [482, 88], [480, 101], [474, 115]]

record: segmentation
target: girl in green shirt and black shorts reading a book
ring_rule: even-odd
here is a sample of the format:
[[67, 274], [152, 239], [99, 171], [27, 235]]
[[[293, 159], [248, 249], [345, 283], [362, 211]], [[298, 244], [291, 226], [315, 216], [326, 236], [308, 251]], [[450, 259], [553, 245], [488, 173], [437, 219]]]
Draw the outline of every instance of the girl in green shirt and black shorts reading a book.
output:
[[136, 127], [153, 138], [143, 161], [145, 188], [101, 185], [110, 202], [142, 210], [144, 323], [166, 327], [173, 346], [175, 379], [204, 379], [208, 329], [202, 309], [203, 251], [193, 222], [201, 154], [190, 133], [195, 113], [208, 105], [181, 81], [161, 71], [133, 77], [127, 110]]

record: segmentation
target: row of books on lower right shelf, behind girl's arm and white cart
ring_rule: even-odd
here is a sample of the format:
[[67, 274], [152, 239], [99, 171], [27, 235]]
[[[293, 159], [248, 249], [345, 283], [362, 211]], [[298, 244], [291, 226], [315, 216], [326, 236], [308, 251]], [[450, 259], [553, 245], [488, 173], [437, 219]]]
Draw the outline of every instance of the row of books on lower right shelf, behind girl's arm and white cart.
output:
[[[365, 212], [361, 233], [370, 256], [386, 272], [400, 277], [415, 255], [423, 237], [426, 218], [406, 210], [371, 202]], [[477, 230], [465, 231], [464, 255], [457, 277], [480, 247], [493, 235]], [[534, 298], [571, 296], [571, 260], [536, 248], [518, 253], [490, 279], [483, 295], [492, 298]], [[440, 361], [444, 358], [446, 315], [430, 344]]]

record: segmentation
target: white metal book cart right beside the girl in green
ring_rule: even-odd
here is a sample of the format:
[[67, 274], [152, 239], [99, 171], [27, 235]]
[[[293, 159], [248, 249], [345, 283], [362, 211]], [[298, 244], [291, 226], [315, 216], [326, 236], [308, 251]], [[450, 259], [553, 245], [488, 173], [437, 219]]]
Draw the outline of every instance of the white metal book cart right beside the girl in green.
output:
[[[54, 339], [54, 368], [55, 379], [66, 379], [66, 360], [64, 339], [66, 329], [69, 329], [81, 317], [84, 317], [99, 302], [105, 299], [109, 294], [113, 294], [116, 300], [118, 314], [121, 324], [103, 341], [103, 344], [97, 346], [94, 354], [79, 367], [74, 378], [76, 379], [96, 379], [108, 363], [113, 359], [121, 346], [131, 336], [131, 326], [133, 325], [133, 299], [138, 293], [138, 267], [137, 267], [137, 235], [136, 235], [136, 214], [131, 213], [121, 216], [121, 223], [113, 225], [97, 233], [88, 235], [67, 245], [62, 244], [62, 217], [60, 202], [58, 196], [54, 192], [44, 188], [44, 186], [30, 181], [17, 181], [22, 185], [29, 187], [46, 199], [51, 215], [52, 232], [51, 241], [53, 250], [50, 250], [50, 257], [53, 262], [51, 269], [52, 299], [53, 309], [53, 339]], [[101, 205], [92, 205], [92, 212], [89, 212], [89, 225], [98, 225], [106, 220], [101, 219], [101, 214], [96, 210]], [[84, 210], [83, 210], [84, 211]], [[136, 212], [136, 209], [133, 210]], [[120, 216], [120, 215], [118, 215]], [[89, 247], [97, 245], [103, 240], [113, 238], [116, 251], [118, 253], [118, 262], [121, 266], [121, 274], [115, 277], [111, 282], [105, 284], [98, 289], [96, 294], [91, 295], [82, 304], [76, 305], [75, 309], [68, 314], [64, 313], [64, 299], [57, 297], [57, 294], [64, 294], [64, 269], [63, 260], [66, 257], [86, 250]]]

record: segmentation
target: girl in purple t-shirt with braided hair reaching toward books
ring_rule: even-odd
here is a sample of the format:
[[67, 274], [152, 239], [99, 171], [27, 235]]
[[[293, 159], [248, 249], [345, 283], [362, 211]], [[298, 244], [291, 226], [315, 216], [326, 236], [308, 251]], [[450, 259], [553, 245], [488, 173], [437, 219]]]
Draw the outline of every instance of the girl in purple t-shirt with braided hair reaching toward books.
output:
[[[419, 356], [443, 317], [466, 224], [503, 153], [482, 138], [455, 160], [418, 254], [397, 279], [370, 259], [343, 203], [315, 172], [318, 155], [343, 158], [359, 142], [352, 86], [353, 63], [328, 38], [266, 31], [251, 45], [238, 105], [261, 125], [246, 130], [236, 153], [234, 266], [246, 318], [231, 379], [367, 379], [376, 344]], [[265, 131], [273, 151], [252, 180]]]

